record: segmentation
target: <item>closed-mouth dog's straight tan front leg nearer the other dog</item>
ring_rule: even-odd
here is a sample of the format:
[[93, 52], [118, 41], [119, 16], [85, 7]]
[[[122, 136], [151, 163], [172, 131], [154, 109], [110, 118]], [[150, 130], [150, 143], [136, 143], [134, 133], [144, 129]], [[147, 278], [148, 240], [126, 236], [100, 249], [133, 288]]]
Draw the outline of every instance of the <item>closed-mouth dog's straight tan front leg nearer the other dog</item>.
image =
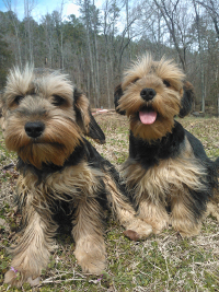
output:
[[100, 275], [105, 268], [103, 238], [103, 210], [94, 198], [78, 202], [72, 236], [76, 241], [76, 258], [83, 272]]

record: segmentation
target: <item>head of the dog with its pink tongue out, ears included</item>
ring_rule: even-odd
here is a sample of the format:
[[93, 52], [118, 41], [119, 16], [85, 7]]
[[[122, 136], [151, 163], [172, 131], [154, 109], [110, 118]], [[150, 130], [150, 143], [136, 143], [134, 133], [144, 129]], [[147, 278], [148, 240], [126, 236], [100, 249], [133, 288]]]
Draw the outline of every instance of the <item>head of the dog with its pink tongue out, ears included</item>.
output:
[[149, 141], [161, 139], [171, 132], [175, 115], [189, 113], [193, 91], [184, 78], [172, 61], [153, 61], [151, 56], [145, 56], [125, 72], [115, 91], [115, 106], [129, 117], [134, 136]]

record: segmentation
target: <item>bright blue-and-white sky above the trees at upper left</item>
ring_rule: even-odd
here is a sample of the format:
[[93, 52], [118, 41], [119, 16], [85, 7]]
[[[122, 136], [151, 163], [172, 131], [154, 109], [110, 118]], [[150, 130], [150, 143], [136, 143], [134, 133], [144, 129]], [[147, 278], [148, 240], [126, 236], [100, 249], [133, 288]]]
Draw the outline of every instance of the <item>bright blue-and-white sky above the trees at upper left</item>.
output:
[[[28, 1], [30, 7], [33, 3], [33, 10], [31, 15], [35, 21], [39, 21], [42, 15], [51, 13], [54, 10], [61, 10], [61, 0], [25, 0]], [[20, 20], [24, 19], [24, 0], [0, 0], [0, 11], [7, 12], [8, 8], [5, 3], [11, 2], [11, 10], [18, 15]], [[72, 0], [64, 1], [62, 17], [67, 17], [70, 14], [79, 16], [79, 8], [72, 3]]]

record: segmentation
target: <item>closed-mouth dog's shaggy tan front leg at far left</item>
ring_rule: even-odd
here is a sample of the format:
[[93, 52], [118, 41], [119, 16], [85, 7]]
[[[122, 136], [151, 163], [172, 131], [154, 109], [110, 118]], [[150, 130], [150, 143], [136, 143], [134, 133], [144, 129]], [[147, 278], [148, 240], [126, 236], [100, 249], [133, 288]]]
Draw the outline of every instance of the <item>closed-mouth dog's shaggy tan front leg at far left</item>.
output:
[[33, 205], [22, 208], [23, 230], [18, 245], [11, 248], [13, 260], [4, 276], [4, 283], [15, 287], [21, 287], [24, 282], [38, 284], [42, 269], [47, 267], [54, 249], [53, 236], [57, 226], [47, 210], [41, 210], [39, 214]]

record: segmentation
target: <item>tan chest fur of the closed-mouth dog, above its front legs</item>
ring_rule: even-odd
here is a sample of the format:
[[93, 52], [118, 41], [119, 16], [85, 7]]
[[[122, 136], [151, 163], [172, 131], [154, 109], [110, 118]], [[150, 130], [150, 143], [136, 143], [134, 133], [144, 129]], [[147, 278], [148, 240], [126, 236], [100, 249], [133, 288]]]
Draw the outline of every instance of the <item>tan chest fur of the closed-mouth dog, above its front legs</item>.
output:
[[[34, 197], [66, 200], [67, 197], [90, 197], [99, 186], [97, 172], [93, 171], [87, 163], [65, 167], [62, 171], [47, 174], [38, 180], [34, 173], [27, 173], [20, 179], [19, 185]], [[21, 186], [20, 186], [21, 187]]]

